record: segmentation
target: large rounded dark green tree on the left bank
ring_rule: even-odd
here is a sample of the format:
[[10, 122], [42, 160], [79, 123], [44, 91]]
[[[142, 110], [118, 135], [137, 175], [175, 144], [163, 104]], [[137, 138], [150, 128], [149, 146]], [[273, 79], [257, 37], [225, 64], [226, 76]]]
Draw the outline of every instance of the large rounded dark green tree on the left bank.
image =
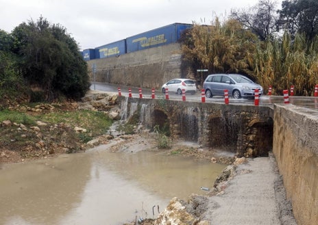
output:
[[64, 27], [50, 25], [40, 16], [36, 22], [21, 23], [12, 37], [12, 51], [19, 57], [21, 74], [29, 85], [43, 90], [46, 100], [58, 94], [84, 96], [90, 85], [87, 64]]

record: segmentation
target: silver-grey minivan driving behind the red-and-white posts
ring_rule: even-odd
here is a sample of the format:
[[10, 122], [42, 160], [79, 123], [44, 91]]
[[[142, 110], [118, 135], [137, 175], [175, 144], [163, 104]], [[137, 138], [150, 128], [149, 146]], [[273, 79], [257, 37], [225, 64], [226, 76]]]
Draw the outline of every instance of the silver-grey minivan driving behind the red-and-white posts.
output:
[[256, 88], [259, 90], [259, 96], [263, 92], [261, 85], [238, 74], [208, 75], [204, 81], [203, 88], [207, 98], [212, 98], [214, 95], [223, 96], [225, 89], [228, 90], [229, 96], [233, 98], [254, 97]]

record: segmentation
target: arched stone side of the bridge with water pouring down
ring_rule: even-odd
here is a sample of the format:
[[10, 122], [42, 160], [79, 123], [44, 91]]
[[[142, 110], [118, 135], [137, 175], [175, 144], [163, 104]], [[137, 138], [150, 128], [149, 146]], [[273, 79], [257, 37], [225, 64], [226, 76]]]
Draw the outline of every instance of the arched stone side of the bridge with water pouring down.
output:
[[168, 127], [176, 139], [232, 150], [238, 157], [264, 156], [272, 149], [273, 112], [269, 107], [125, 97], [119, 100], [125, 118], [138, 114], [145, 127]]

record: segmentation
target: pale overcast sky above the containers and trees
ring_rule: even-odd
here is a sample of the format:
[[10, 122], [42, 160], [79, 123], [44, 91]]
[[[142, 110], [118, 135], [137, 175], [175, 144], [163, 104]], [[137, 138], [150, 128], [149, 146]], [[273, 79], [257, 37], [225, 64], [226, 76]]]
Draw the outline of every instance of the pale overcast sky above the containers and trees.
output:
[[[80, 49], [94, 49], [172, 23], [210, 24], [231, 9], [249, 8], [258, 0], [0, 0], [0, 29], [40, 15], [59, 23]], [[278, 0], [280, 8], [281, 0]]]

